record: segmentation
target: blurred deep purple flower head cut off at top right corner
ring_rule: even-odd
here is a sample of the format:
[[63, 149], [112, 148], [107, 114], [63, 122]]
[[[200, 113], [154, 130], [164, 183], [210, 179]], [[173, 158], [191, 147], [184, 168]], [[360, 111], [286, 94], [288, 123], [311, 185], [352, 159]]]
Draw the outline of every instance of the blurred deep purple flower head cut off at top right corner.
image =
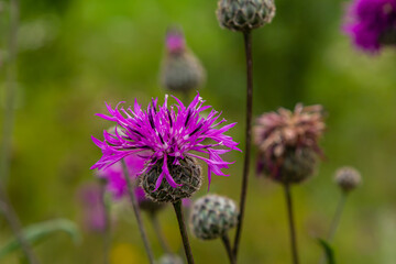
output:
[[346, 11], [344, 31], [369, 52], [396, 44], [396, 0], [354, 0]]

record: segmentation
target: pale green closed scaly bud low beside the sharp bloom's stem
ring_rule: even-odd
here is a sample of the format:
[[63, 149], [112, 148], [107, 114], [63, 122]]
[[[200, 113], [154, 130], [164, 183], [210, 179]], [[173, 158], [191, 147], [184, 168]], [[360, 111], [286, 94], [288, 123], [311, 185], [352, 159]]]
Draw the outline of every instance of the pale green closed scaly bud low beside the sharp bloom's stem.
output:
[[218, 195], [198, 199], [190, 213], [190, 229], [201, 240], [212, 240], [226, 234], [238, 223], [239, 211], [233, 200]]

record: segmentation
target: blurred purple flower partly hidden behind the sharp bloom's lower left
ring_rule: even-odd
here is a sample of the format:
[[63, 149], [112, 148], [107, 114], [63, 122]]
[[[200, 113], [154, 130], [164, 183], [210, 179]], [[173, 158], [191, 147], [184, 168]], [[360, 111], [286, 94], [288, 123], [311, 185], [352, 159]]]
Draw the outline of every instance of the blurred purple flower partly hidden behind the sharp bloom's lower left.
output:
[[[136, 178], [136, 175], [144, 167], [144, 160], [138, 155], [130, 155], [124, 158], [128, 172], [132, 180]], [[98, 177], [107, 180], [107, 190], [113, 195], [114, 199], [122, 198], [128, 193], [127, 180], [123, 174], [122, 164], [120, 162], [98, 172]], [[141, 189], [141, 188], [139, 188]], [[143, 189], [142, 189], [143, 191]], [[142, 200], [140, 191], [135, 191], [138, 201]]]

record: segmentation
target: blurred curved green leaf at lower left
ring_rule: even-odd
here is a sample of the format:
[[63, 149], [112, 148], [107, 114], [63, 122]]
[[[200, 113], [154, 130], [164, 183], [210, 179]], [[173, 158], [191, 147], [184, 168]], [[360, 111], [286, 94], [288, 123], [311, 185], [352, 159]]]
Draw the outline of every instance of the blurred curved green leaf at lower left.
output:
[[[37, 244], [57, 231], [64, 231], [69, 234], [75, 244], [78, 244], [81, 241], [81, 235], [76, 223], [67, 219], [56, 219], [35, 223], [22, 230], [24, 238], [30, 244]], [[20, 243], [18, 240], [15, 238], [11, 239], [6, 245], [0, 248], [0, 258], [19, 249]]]

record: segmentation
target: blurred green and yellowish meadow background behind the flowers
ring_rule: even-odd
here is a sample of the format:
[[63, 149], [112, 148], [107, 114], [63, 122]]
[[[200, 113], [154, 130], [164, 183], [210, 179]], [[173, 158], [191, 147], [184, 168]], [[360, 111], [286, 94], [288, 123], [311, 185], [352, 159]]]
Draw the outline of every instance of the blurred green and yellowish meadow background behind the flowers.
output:
[[[0, 106], [4, 107], [9, 1], [0, 1]], [[396, 55], [366, 55], [342, 34], [346, 2], [277, 0], [271, 25], [254, 31], [254, 114], [321, 103], [328, 130], [326, 160], [316, 177], [294, 188], [301, 263], [316, 263], [336, 210], [333, 172], [359, 168], [363, 185], [348, 200], [334, 240], [339, 263], [395, 263], [396, 251]], [[24, 226], [67, 218], [82, 223], [78, 191], [95, 182], [89, 167], [100, 157], [90, 135], [110, 124], [95, 117], [105, 101], [146, 105], [165, 95], [158, 85], [164, 35], [180, 24], [207, 68], [207, 102], [239, 122], [230, 134], [243, 147], [245, 66], [242, 35], [219, 28], [217, 1], [22, 0], [18, 100], [10, 198]], [[253, 150], [255, 153], [255, 150]], [[210, 193], [239, 199], [243, 154], [232, 153], [229, 178], [215, 177]], [[254, 164], [252, 162], [252, 170]], [[282, 188], [251, 175], [240, 263], [289, 263]], [[207, 193], [206, 185], [196, 196]], [[131, 210], [116, 209], [112, 263], [146, 263]], [[180, 246], [170, 208], [161, 220], [172, 248]], [[156, 256], [162, 251], [147, 227]], [[42, 263], [101, 263], [101, 235], [85, 230], [80, 245], [58, 233], [34, 250]], [[0, 245], [11, 238], [0, 218]], [[227, 263], [220, 241], [191, 239], [196, 263]], [[14, 253], [1, 263], [18, 263]]]

